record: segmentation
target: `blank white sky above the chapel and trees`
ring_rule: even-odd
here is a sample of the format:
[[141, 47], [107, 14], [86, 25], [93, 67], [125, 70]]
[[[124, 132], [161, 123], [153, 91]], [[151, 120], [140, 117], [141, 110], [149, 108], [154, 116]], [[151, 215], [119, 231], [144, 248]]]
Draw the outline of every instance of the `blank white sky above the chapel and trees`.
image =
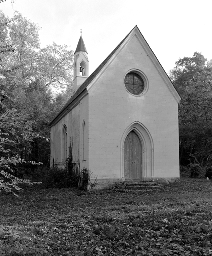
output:
[[89, 74], [135, 25], [167, 73], [196, 51], [212, 59], [212, 0], [7, 0], [0, 9], [37, 23], [41, 47], [54, 41], [75, 51], [82, 29]]

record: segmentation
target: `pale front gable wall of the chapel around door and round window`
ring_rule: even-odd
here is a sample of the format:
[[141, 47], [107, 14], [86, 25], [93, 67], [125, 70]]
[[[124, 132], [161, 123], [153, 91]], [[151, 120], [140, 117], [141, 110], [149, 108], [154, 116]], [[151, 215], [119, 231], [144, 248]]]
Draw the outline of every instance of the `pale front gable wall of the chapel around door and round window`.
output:
[[[145, 95], [136, 97], [125, 89], [124, 77], [130, 69], [147, 77]], [[136, 121], [153, 139], [154, 178], [179, 177], [178, 104], [134, 36], [89, 91], [89, 169], [95, 176], [124, 176], [120, 141]], [[148, 166], [146, 177], [151, 175]]]

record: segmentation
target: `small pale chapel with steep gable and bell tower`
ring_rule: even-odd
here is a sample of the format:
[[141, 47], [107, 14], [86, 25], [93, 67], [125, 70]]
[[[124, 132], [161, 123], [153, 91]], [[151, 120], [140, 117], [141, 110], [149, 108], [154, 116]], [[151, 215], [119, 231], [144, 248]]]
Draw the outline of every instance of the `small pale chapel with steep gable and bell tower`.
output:
[[71, 153], [100, 187], [179, 179], [180, 96], [135, 26], [89, 76], [82, 36], [73, 95], [51, 121], [51, 166]]

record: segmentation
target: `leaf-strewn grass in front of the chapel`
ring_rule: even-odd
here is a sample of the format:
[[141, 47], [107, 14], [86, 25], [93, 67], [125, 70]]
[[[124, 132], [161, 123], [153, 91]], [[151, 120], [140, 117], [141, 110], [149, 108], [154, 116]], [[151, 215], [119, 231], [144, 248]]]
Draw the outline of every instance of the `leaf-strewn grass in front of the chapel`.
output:
[[0, 255], [212, 255], [212, 183], [0, 194]]

